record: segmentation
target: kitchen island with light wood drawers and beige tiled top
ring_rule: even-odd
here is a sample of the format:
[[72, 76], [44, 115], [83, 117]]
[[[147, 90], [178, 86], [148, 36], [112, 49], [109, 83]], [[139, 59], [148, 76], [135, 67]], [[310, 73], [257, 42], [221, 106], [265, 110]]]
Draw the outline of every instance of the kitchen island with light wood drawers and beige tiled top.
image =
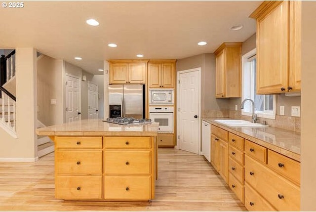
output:
[[155, 197], [158, 123], [99, 119], [37, 129], [55, 143], [55, 197], [73, 201], [149, 201]]

